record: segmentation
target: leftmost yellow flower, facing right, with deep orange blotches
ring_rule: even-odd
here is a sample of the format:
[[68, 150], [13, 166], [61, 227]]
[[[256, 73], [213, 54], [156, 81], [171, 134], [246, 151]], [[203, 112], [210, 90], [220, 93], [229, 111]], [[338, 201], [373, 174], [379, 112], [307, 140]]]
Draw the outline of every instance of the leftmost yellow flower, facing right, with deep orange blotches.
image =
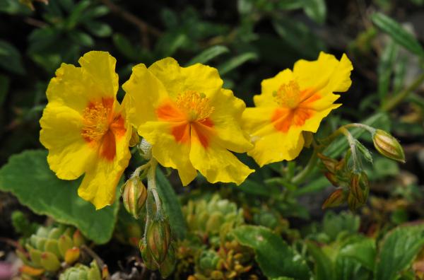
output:
[[73, 180], [86, 173], [78, 194], [100, 209], [114, 202], [128, 165], [131, 127], [116, 99], [116, 59], [88, 52], [78, 62], [81, 67], [61, 64], [49, 83], [40, 141], [57, 177]]

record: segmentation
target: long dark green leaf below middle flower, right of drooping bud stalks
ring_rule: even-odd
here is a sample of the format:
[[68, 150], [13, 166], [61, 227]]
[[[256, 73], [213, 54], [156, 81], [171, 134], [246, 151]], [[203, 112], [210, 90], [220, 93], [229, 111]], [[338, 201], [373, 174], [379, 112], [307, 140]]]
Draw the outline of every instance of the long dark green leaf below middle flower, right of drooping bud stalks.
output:
[[172, 233], [179, 240], [182, 240], [187, 234], [187, 224], [182, 214], [177, 194], [175, 194], [170, 182], [159, 168], [156, 173], [158, 194], [160, 199], [162, 199], [163, 209], [170, 219]]

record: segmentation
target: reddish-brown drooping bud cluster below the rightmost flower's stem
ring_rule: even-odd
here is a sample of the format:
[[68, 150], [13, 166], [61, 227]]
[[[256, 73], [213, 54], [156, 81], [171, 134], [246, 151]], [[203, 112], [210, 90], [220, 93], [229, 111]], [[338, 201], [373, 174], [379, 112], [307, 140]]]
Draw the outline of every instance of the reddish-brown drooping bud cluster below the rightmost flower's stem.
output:
[[326, 168], [325, 176], [334, 187], [337, 187], [322, 204], [322, 208], [340, 206], [344, 202], [348, 202], [349, 208], [355, 211], [367, 202], [370, 193], [370, 184], [367, 174], [360, 170], [351, 170], [346, 164], [348, 155], [341, 161], [329, 158], [321, 153], [318, 154], [324, 167]]

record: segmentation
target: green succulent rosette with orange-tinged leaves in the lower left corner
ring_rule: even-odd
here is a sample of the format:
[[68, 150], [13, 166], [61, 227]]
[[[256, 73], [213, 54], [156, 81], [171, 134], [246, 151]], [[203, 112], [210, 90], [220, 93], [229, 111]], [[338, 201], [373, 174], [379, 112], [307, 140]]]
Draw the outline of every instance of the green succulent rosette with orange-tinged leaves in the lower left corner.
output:
[[22, 279], [37, 279], [45, 274], [55, 274], [64, 267], [74, 264], [81, 255], [80, 247], [86, 243], [80, 231], [58, 226], [40, 227], [37, 233], [25, 240], [25, 251], [16, 254], [23, 261], [20, 267]]

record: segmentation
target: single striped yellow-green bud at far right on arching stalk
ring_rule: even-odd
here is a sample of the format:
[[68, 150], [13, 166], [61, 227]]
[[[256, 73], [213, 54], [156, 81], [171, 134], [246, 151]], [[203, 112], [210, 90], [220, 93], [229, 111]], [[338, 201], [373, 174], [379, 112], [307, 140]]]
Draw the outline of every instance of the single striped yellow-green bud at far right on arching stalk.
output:
[[372, 135], [372, 141], [374, 141], [374, 146], [377, 151], [383, 156], [394, 161], [405, 163], [404, 149], [394, 136], [384, 132], [382, 129], [377, 129]]

